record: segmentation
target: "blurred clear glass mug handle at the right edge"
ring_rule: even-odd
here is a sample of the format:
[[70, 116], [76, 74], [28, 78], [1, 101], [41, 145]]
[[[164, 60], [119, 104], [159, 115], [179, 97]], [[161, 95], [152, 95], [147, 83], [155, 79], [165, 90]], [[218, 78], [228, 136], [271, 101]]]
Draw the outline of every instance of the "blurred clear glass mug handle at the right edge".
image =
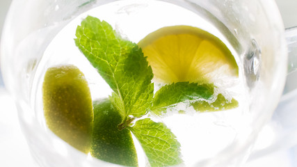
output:
[[[297, 74], [297, 26], [286, 29], [288, 47], [288, 76]], [[297, 80], [288, 80], [296, 85]], [[273, 117], [259, 133], [248, 161], [265, 157], [271, 152], [287, 151], [288, 159], [297, 156], [297, 87], [285, 88]]]

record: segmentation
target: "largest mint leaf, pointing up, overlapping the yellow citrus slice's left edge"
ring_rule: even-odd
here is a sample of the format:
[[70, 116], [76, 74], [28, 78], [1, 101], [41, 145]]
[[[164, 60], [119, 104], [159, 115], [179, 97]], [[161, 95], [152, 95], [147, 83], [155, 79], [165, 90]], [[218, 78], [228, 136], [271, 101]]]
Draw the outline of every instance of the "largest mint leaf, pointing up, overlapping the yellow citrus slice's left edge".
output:
[[141, 49], [124, 40], [111, 25], [86, 17], [77, 27], [75, 44], [111, 86], [113, 105], [122, 116], [143, 116], [151, 106], [154, 86], [152, 68]]

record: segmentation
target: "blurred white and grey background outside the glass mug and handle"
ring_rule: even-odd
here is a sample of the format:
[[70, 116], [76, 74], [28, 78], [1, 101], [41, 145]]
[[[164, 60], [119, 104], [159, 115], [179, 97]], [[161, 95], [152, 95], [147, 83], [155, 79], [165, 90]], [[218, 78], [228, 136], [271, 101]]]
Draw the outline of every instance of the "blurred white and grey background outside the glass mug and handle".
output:
[[[11, 0], [0, 0], [0, 32], [10, 1]], [[297, 0], [277, 0], [276, 2], [280, 8], [284, 26], [286, 28], [297, 26]], [[294, 83], [297, 83], [297, 81]], [[270, 142], [267, 141], [267, 136], [273, 137], [273, 132], [271, 132], [268, 125], [264, 128], [262, 136], [259, 138], [257, 147], [264, 147]], [[273, 152], [268, 152], [265, 156], [254, 156], [248, 160], [245, 167], [297, 167], [297, 157], [292, 157], [297, 156], [296, 150], [297, 146], [294, 148], [277, 149]], [[0, 166], [36, 166], [28, 150], [24, 136], [22, 136], [13, 99], [6, 92], [1, 79]]]

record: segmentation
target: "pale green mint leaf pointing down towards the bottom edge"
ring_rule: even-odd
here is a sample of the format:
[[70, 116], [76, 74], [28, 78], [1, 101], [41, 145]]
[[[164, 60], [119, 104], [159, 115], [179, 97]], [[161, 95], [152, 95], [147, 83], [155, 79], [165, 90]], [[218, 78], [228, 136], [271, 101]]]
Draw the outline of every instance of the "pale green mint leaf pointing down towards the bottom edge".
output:
[[141, 143], [150, 166], [175, 166], [182, 163], [180, 144], [163, 123], [145, 118], [128, 128]]

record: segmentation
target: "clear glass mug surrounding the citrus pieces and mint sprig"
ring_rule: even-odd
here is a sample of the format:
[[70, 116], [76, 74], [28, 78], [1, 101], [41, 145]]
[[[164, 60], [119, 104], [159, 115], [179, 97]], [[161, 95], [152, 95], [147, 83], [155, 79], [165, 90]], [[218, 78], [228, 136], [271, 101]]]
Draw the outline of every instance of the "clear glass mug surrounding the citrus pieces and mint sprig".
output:
[[[206, 146], [202, 149], [196, 149], [193, 145], [193, 152], [188, 154], [189, 160], [186, 160], [185, 166], [238, 167], [246, 161], [257, 134], [278, 104], [287, 74], [288, 52], [284, 26], [274, 1], [14, 0], [3, 28], [1, 70], [6, 88], [15, 98], [26, 140], [40, 166], [116, 166], [75, 150], [47, 129], [40, 105], [42, 74], [52, 64], [67, 62], [69, 58], [61, 58], [60, 61], [59, 56], [52, 58], [51, 54], [46, 53], [51, 42], [65, 33], [68, 25], [81, 21], [86, 12], [88, 15], [92, 13], [89, 13], [90, 10], [100, 9], [102, 13], [98, 15], [102, 17], [112, 15], [113, 18], [107, 19], [113, 22], [113, 26], [119, 26], [123, 34], [134, 39], [134, 42], [141, 38], [139, 34], [147, 34], [155, 29], [152, 24], [175, 24], [177, 19], [182, 23], [200, 24], [196, 17], [185, 17], [169, 8], [157, 9], [158, 5], [152, 3], [177, 6], [215, 27], [214, 33], [222, 34], [224, 42], [238, 55], [236, 61], [242, 84], [246, 88], [246, 97], [241, 104], [244, 111], [235, 115], [228, 111], [207, 113], [214, 114], [211, 116], [216, 121], [211, 120], [211, 125], [232, 129], [232, 132], [222, 134], [218, 133], [218, 129], [211, 132], [211, 129], [203, 127], [205, 130], [198, 134], [213, 133], [213, 138], [211, 135], [204, 137], [204, 142], [209, 143], [203, 143]], [[113, 6], [111, 10], [104, 10], [109, 5]], [[158, 15], [145, 13], [143, 19], [137, 19], [136, 16], [142, 15], [141, 12], [147, 8], [156, 8]], [[167, 23], [168, 20], [174, 21]], [[135, 38], [132, 37], [134, 33], [137, 34]], [[67, 44], [61, 42], [59, 45], [62, 46], [58, 48], [63, 49], [63, 45]], [[67, 51], [63, 54], [67, 54]], [[225, 136], [225, 141], [220, 140], [220, 137]], [[219, 146], [207, 149], [208, 146], [216, 145], [214, 143]], [[139, 166], [145, 166], [145, 163]]]

